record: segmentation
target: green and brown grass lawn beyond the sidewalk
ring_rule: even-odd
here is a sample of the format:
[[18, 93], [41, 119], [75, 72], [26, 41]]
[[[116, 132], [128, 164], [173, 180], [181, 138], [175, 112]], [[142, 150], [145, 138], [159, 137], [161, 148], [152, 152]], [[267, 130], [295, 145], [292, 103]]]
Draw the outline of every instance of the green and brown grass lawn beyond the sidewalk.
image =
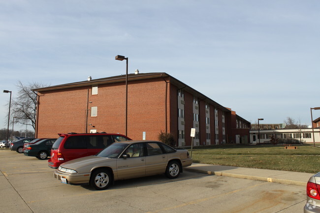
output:
[[284, 146], [272, 145], [194, 147], [192, 159], [195, 163], [307, 173], [320, 172], [320, 148], [310, 145], [298, 145], [296, 150], [286, 150]]

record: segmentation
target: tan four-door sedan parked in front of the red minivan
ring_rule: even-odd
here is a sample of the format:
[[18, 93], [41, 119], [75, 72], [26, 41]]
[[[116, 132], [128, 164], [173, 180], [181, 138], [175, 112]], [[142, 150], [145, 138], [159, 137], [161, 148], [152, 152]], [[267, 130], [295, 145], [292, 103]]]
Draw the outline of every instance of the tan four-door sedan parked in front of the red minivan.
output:
[[97, 190], [113, 181], [165, 174], [177, 178], [192, 159], [187, 150], [175, 150], [159, 141], [117, 142], [96, 155], [65, 162], [54, 177], [65, 184], [90, 183]]

